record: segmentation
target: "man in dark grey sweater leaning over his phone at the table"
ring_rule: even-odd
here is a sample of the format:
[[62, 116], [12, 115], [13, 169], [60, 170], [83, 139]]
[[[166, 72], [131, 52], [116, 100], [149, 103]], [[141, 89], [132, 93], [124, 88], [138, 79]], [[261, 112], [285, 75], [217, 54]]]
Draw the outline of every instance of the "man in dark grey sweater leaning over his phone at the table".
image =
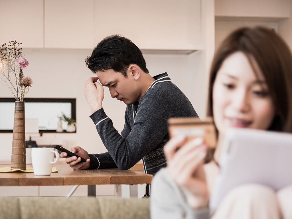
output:
[[[87, 57], [86, 65], [97, 77], [86, 81], [85, 98], [108, 152], [88, 154], [81, 147], [74, 147], [72, 152], [87, 161], [68, 157], [66, 162], [76, 170], [117, 167], [127, 170], [142, 159], [145, 173], [154, 175], [166, 166], [163, 146], [169, 139], [168, 118], [197, 117], [192, 104], [167, 73], [151, 77], [140, 49], [125, 37], [112, 35], [100, 41]], [[103, 86], [109, 88], [112, 98], [127, 105], [121, 134], [102, 108]], [[150, 185], [146, 186], [145, 196], [150, 196]]]

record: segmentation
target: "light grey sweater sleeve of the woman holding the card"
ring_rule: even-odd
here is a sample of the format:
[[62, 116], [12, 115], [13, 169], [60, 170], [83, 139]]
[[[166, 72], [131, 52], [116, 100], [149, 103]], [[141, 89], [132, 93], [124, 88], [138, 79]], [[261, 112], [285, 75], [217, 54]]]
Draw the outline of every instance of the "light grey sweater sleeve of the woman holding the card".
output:
[[192, 209], [187, 205], [184, 192], [168, 177], [164, 168], [158, 171], [151, 183], [151, 218], [209, 219], [209, 208]]

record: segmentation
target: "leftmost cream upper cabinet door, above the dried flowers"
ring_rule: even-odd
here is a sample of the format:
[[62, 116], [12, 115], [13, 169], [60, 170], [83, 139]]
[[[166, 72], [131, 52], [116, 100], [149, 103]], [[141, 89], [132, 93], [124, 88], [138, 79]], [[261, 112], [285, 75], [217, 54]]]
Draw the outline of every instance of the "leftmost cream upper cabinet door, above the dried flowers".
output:
[[22, 48], [43, 48], [43, 1], [0, 1], [0, 44], [16, 40]]

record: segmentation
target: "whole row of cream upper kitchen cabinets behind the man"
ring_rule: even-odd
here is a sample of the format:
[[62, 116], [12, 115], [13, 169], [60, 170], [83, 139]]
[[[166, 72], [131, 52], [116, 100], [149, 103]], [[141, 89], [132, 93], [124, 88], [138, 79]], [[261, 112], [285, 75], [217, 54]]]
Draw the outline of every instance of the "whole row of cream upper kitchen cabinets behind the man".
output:
[[7, 22], [1, 25], [0, 42], [16, 39], [24, 48], [92, 49], [104, 37], [121, 34], [144, 54], [189, 54], [204, 49], [202, 2], [1, 1]]

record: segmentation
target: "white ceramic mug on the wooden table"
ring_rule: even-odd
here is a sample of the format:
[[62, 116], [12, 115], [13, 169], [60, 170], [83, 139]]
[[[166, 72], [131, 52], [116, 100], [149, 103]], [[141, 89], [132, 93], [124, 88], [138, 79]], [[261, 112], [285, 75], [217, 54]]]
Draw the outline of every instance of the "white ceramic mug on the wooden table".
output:
[[[56, 160], [54, 161], [54, 153]], [[50, 147], [33, 147], [32, 148], [32, 167], [34, 175], [49, 176], [52, 173], [53, 164], [60, 158], [58, 152]]]

